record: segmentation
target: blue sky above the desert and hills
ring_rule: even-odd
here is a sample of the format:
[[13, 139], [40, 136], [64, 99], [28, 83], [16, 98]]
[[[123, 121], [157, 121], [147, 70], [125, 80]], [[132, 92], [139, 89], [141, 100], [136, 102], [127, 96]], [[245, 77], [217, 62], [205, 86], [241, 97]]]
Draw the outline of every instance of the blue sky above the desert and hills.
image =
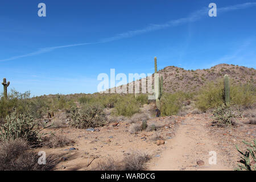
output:
[[40, 96], [97, 92], [110, 68], [152, 73], [154, 56], [159, 69], [256, 68], [255, 30], [255, 0], [1, 0], [0, 78]]

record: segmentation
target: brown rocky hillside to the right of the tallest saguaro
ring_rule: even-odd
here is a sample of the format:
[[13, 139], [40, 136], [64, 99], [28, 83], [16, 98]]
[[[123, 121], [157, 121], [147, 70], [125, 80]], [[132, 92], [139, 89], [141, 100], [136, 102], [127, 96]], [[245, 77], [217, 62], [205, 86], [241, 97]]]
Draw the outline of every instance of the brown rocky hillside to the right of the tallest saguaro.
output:
[[[163, 76], [164, 92], [168, 93], [174, 93], [179, 90], [184, 92], [194, 92], [207, 84], [207, 82], [217, 81], [226, 74], [229, 75], [232, 81], [237, 84], [250, 82], [256, 86], [256, 70], [254, 68], [247, 68], [233, 64], [218, 64], [210, 69], [196, 70], [185, 70], [183, 68], [169, 66], [164, 69], [160, 69], [158, 73], [160, 76]], [[154, 85], [154, 75], [152, 82]]]

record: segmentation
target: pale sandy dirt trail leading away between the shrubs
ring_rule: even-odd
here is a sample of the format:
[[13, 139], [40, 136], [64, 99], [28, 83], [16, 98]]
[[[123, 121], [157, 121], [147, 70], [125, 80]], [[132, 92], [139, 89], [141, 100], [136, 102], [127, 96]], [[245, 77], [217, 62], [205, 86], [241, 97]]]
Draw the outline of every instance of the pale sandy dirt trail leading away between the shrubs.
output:
[[[176, 136], [168, 140], [166, 150], [159, 158], [148, 164], [149, 170], [232, 170], [224, 166], [225, 157], [218, 150], [214, 138], [207, 134], [206, 119], [203, 115], [191, 115], [180, 123]], [[217, 154], [217, 164], [209, 164], [210, 151]], [[204, 165], [198, 166], [197, 161], [203, 160]]]

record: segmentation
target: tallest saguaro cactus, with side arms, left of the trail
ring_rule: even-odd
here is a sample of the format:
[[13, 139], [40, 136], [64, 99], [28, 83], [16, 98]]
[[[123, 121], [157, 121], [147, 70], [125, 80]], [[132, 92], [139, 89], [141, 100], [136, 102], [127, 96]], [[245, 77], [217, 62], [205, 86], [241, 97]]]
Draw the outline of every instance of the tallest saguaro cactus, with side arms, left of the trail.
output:
[[163, 94], [163, 77], [161, 77], [161, 80], [159, 78], [158, 74], [158, 65], [157, 65], [157, 59], [155, 57], [155, 74], [154, 74], [154, 93], [155, 93], [155, 103], [156, 107], [160, 109], [160, 98]]

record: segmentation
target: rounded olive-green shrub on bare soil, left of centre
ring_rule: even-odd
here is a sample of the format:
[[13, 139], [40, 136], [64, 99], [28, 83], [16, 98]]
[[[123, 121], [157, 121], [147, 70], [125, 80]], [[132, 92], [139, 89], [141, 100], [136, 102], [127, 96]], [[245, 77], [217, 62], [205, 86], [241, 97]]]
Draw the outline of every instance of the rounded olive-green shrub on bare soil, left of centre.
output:
[[71, 118], [71, 126], [79, 129], [106, 125], [104, 107], [98, 104], [85, 104], [80, 109], [75, 106], [72, 107]]

